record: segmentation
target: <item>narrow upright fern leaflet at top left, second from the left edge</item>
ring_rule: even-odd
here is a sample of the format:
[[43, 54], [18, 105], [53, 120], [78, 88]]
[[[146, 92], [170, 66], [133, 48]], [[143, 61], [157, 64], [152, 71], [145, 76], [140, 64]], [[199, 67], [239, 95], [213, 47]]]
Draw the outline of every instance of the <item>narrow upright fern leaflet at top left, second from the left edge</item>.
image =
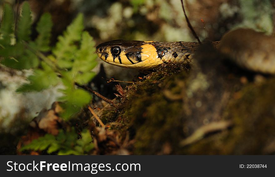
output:
[[24, 2], [22, 5], [21, 17], [18, 21], [18, 28], [16, 32], [16, 36], [18, 41], [28, 41], [30, 40], [31, 35], [31, 25], [32, 25], [32, 17], [30, 5], [27, 2]]

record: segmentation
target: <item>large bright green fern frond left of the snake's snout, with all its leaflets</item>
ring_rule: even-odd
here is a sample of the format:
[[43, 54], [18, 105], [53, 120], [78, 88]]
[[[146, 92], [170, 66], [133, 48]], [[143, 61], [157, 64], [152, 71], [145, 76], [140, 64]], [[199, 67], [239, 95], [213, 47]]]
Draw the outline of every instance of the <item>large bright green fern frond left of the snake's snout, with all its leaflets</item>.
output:
[[[10, 6], [5, 6], [5, 11], [5, 14], [12, 16]], [[63, 36], [58, 37], [58, 43], [52, 50], [53, 55], [48, 56], [42, 56], [43, 54], [38, 53], [38, 51], [50, 50], [49, 42], [53, 24], [48, 13], [42, 15], [37, 24], [37, 39], [29, 41], [32, 21], [29, 4], [25, 2], [22, 6], [16, 31], [18, 40], [13, 45], [10, 44], [10, 37], [13, 32], [12, 23], [9, 22], [8, 16], [5, 15], [3, 18], [5, 19], [3, 19], [1, 26], [0, 40], [3, 40], [5, 36], [9, 38], [5, 39], [8, 41], [6, 46], [0, 45], [0, 56], [3, 58], [1, 63], [14, 69], [34, 69], [34, 74], [28, 78], [30, 83], [22, 85], [17, 91], [41, 91], [62, 81], [66, 87], [62, 90], [64, 96], [61, 98], [62, 107], [65, 110], [62, 115], [64, 119], [71, 118], [90, 102], [91, 95], [87, 91], [76, 89], [74, 86], [75, 82], [79, 84], [88, 83], [95, 75], [91, 70], [97, 65], [93, 38], [88, 32], [83, 32], [83, 14], [79, 14], [68, 26]], [[50, 66], [41, 62], [37, 54]], [[38, 66], [41, 67], [38, 68]], [[61, 79], [57, 77], [56, 70], [61, 73]], [[50, 146], [49, 152], [54, 152], [57, 148], [57, 145]]]

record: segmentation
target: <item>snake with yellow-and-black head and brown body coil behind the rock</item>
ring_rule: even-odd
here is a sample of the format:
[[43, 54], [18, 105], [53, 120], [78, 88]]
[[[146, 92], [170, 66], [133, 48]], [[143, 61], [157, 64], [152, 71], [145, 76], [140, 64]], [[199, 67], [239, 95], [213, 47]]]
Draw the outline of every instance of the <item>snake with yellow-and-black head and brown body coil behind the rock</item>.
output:
[[[252, 29], [236, 29], [212, 44], [242, 68], [275, 74], [275, 37]], [[190, 63], [198, 46], [198, 42], [113, 40], [99, 44], [97, 53], [112, 65], [151, 69], [170, 61]]]

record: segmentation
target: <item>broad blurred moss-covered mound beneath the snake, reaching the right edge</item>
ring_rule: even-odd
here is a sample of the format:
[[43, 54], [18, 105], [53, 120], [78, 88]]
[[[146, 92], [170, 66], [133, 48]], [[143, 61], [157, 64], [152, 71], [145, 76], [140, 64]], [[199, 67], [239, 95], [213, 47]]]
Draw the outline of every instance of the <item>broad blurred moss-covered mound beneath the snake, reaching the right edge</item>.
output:
[[[242, 83], [240, 77], [257, 75], [217, 69], [222, 64], [203, 65], [207, 72], [189, 73], [187, 65], [177, 64], [155, 70], [129, 89], [110, 115], [118, 123], [111, 128], [130, 135], [132, 154], [274, 154], [275, 78]], [[232, 126], [181, 145], [200, 127], [225, 120]]]

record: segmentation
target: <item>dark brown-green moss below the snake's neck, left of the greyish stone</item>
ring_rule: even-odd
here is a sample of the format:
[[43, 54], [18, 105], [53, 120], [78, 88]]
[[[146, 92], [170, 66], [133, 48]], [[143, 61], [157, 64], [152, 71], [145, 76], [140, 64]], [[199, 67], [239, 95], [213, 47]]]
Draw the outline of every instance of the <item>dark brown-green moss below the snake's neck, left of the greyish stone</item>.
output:
[[165, 90], [178, 95], [182, 91], [178, 81], [186, 78], [188, 70], [184, 64], [168, 64], [128, 92], [118, 120], [124, 123], [119, 127], [121, 132], [128, 130], [135, 139], [134, 154], [158, 154], [165, 144], [175, 146], [180, 140], [175, 137], [183, 136], [182, 124], [179, 123], [182, 122], [180, 110], [183, 101], [171, 100], [165, 95]]

